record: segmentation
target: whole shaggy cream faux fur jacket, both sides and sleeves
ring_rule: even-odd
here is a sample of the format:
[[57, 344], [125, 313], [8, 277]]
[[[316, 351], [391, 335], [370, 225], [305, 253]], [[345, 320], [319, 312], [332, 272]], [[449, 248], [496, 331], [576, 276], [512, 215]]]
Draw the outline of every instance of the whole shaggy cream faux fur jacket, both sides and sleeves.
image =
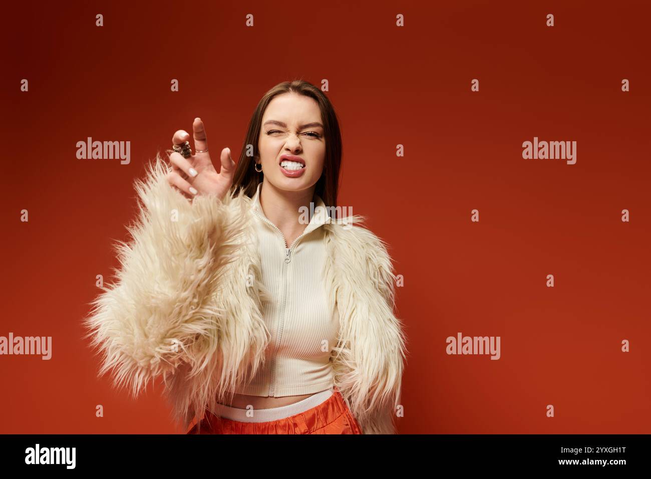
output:
[[[116, 282], [102, 286], [84, 319], [103, 353], [99, 375], [133, 397], [161, 377], [174, 418], [188, 427], [264, 361], [270, 333], [261, 304], [251, 198], [243, 191], [189, 201], [165, 179], [159, 154], [135, 181], [139, 218], [118, 241]], [[357, 225], [359, 215], [326, 224], [329, 304], [339, 341], [335, 386], [365, 434], [395, 433], [403, 362], [402, 324], [393, 313], [395, 274], [385, 243]], [[249, 376], [249, 373], [251, 376]]]

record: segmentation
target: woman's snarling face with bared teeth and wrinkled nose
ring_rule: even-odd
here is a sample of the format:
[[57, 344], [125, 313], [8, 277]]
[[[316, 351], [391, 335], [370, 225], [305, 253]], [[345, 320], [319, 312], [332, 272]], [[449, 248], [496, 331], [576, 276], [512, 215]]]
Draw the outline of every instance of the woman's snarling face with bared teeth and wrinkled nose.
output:
[[298, 192], [314, 186], [326, 158], [324, 127], [316, 100], [298, 93], [275, 96], [262, 115], [258, 150], [264, 181], [285, 191]]

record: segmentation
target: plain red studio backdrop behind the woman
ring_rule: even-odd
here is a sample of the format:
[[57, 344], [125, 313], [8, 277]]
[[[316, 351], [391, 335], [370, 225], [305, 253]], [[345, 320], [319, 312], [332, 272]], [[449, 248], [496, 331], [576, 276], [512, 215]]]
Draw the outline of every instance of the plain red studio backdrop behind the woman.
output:
[[[260, 97], [296, 78], [327, 84], [339, 204], [404, 278], [399, 433], [651, 432], [648, 3], [5, 8], [0, 336], [52, 343], [0, 356], [0, 433], [184, 432], [161, 381], [133, 400], [96, 377], [81, 320], [174, 131], [201, 117], [237, 159]], [[78, 159], [89, 137], [130, 141], [130, 163]], [[534, 138], [575, 162], [523, 158]], [[499, 360], [447, 354], [459, 333], [499, 337]]]

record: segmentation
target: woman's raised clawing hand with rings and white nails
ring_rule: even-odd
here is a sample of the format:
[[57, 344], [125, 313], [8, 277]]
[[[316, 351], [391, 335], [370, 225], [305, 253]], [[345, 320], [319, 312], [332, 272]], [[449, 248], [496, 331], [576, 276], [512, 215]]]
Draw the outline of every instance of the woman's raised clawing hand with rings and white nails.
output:
[[[191, 198], [196, 195], [214, 194], [223, 199], [233, 184], [235, 173], [235, 162], [230, 157], [230, 148], [221, 151], [221, 168], [219, 173], [210, 158], [206, 130], [200, 118], [195, 118], [192, 123], [192, 131], [195, 142], [195, 150], [204, 152], [197, 153], [184, 158], [179, 152], [169, 155], [172, 171], [167, 175], [167, 181], [171, 186], [178, 189], [184, 196]], [[189, 135], [185, 130], [177, 130], [172, 138], [174, 145], [182, 145], [189, 141]], [[191, 145], [190, 145], [191, 146]]]

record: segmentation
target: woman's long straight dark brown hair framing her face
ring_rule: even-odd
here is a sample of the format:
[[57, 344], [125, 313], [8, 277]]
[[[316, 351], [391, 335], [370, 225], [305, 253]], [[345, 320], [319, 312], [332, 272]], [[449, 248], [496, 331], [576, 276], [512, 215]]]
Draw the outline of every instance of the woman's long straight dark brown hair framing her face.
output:
[[[316, 182], [314, 194], [320, 196], [328, 211], [335, 211], [337, 207], [337, 192], [339, 190], [339, 169], [341, 167], [341, 132], [339, 131], [339, 121], [330, 100], [317, 87], [305, 80], [284, 81], [279, 83], [270, 91], [264, 94], [258, 102], [258, 106], [253, 112], [249, 131], [244, 139], [240, 161], [235, 169], [231, 191], [237, 194], [241, 189], [248, 197], [255, 195], [258, 184], [262, 182], [264, 173], [258, 173], [255, 170], [255, 158], [260, 157], [258, 151], [258, 140], [260, 139], [260, 124], [262, 115], [267, 109], [271, 100], [283, 93], [298, 93], [314, 98], [321, 110], [321, 122], [324, 125], [324, 138], [326, 139], [326, 158], [324, 160], [324, 171]], [[250, 150], [248, 145], [253, 147], [253, 156], [247, 155]], [[332, 207], [332, 209], [330, 208]]]

